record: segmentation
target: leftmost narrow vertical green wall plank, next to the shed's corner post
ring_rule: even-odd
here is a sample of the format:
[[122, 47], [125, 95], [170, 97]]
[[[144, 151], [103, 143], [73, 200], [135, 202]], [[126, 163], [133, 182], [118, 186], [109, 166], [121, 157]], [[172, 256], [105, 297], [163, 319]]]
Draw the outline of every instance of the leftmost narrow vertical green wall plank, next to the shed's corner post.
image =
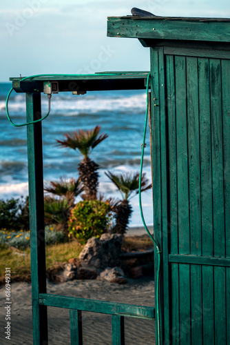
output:
[[[178, 202], [177, 202], [177, 161], [176, 161], [176, 99], [174, 57], [166, 55], [167, 79], [167, 121], [168, 121], [168, 160], [169, 160], [169, 228], [170, 253], [178, 254]], [[178, 264], [171, 265], [171, 342], [179, 344], [179, 281]]]

